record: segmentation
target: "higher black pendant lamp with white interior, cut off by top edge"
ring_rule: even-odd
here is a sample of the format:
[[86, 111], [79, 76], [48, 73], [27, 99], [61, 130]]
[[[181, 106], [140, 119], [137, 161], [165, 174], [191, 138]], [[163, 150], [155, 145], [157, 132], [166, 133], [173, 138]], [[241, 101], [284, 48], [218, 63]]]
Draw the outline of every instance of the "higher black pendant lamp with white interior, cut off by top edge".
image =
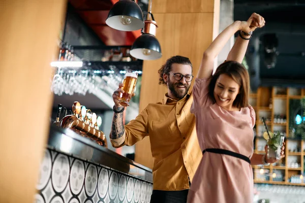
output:
[[139, 5], [132, 0], [120, 0], [108, 13], [106, 24], [113, 29], [134, 31], [144, 26], [143, 13]]

